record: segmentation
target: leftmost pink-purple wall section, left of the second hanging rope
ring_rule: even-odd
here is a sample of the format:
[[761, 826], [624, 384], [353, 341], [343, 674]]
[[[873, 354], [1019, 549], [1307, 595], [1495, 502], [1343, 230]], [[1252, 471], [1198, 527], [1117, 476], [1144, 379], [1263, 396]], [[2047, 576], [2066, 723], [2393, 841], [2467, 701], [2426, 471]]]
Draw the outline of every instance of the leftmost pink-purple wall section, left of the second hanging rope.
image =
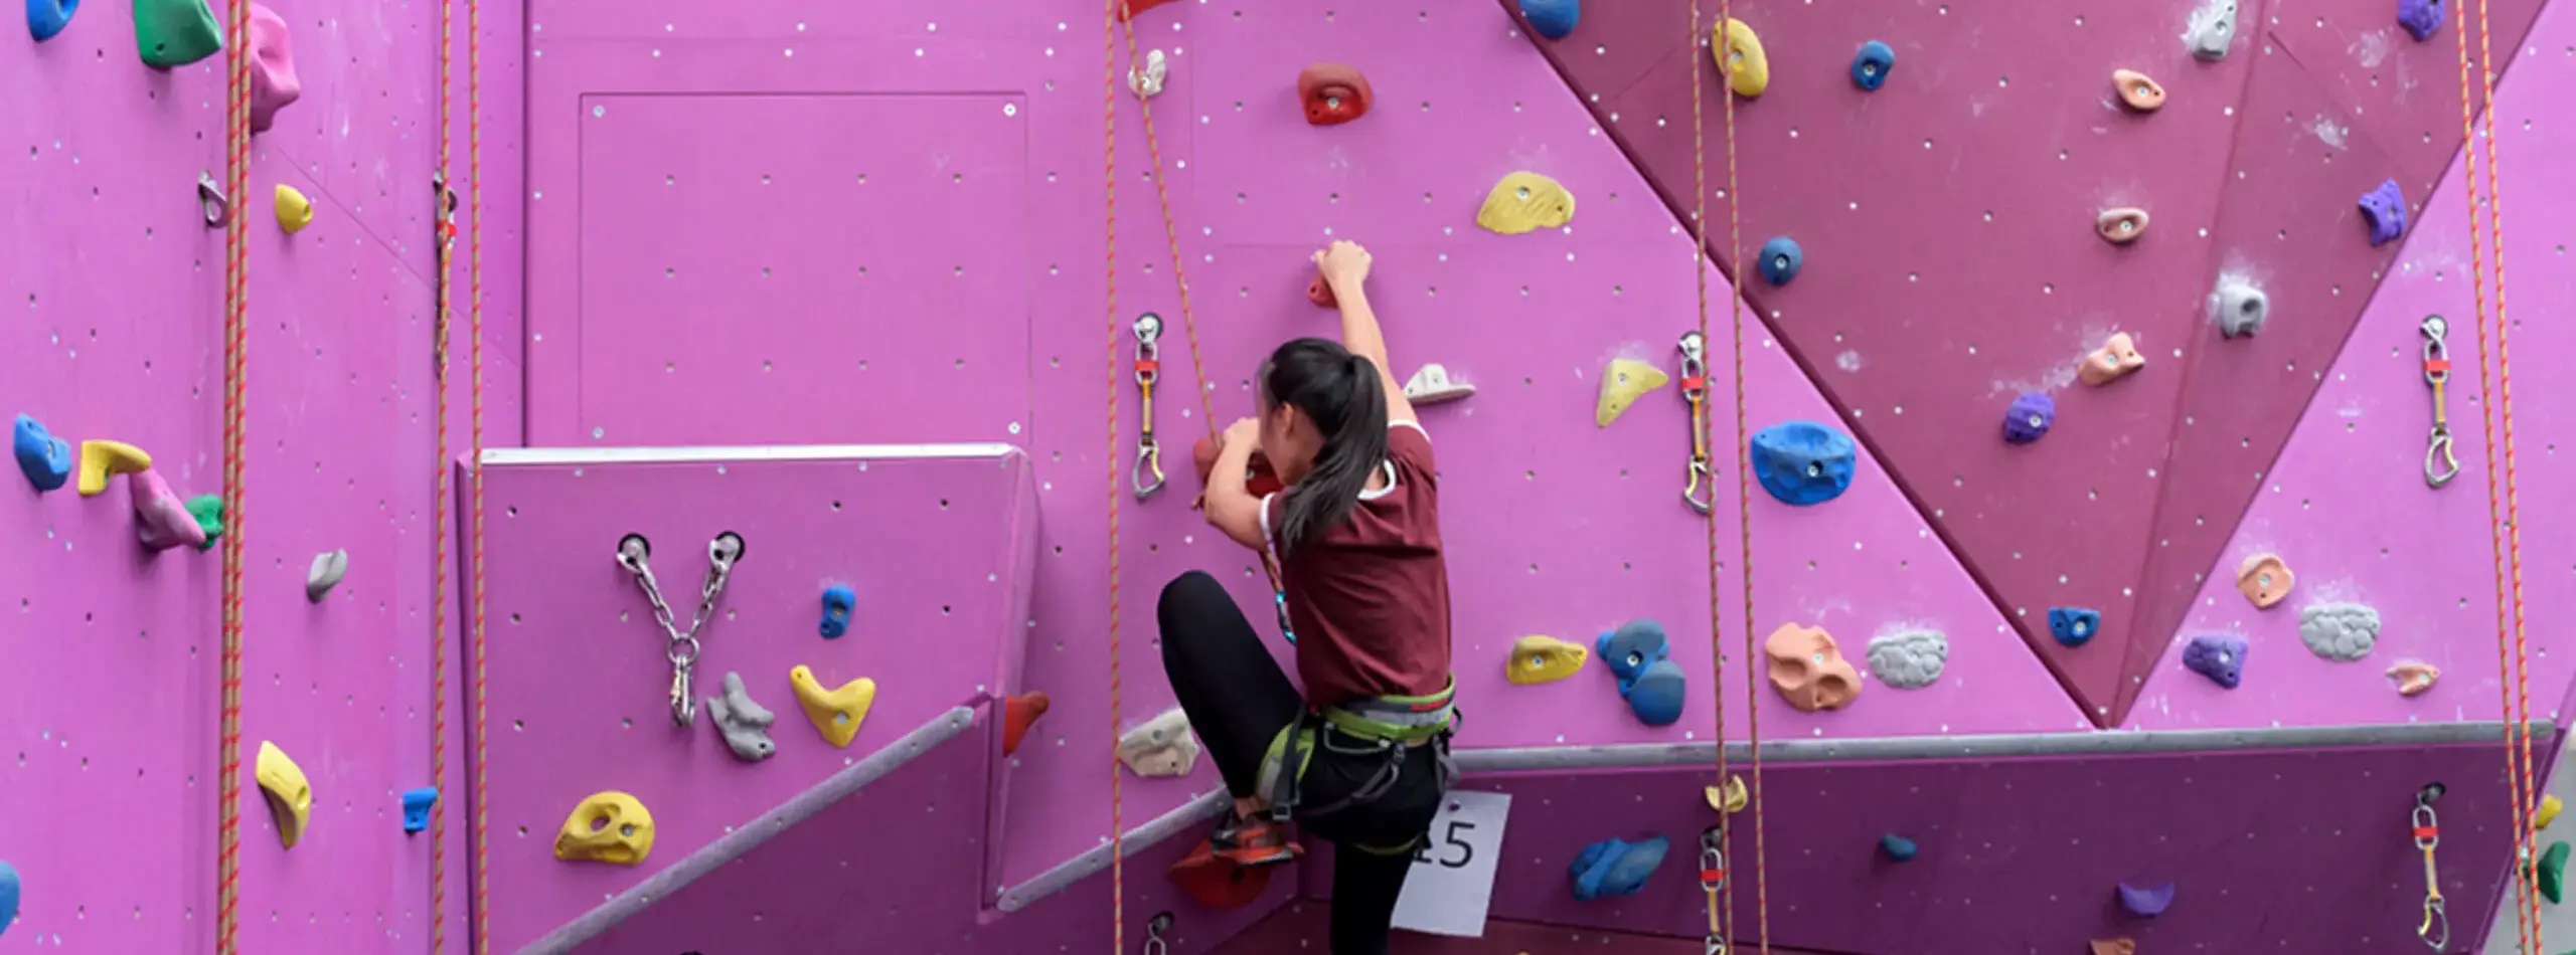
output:
[[[160, 5], [131, 5], [160, 8]], [[0, 44], [0, 407], [57, 438], [152, 456], [180, 497], [224, 471], [224, 234], [198, 211], [224, 170], [224, 57], [149, 70], [134, 10], [90, 3], [59, 36]], [[281, 0], [301, 98], [252, 139], [240, 945], [417, 950], [428, 839], [397, 795], [428, 777], [433, 10]], [[15, 8], [13, 8], [15, 15]], [[278, 185], [314, 219], [283, 234]], [[129, 481], [36, 494], [0, 520], [0, 947], [211, 950], [216, 906], [219, 553], [149, 553]], [[348, 574], [307, 600], [317, 553]], [[294, 757], [312, 821], [283, 849], [250, 757]]]

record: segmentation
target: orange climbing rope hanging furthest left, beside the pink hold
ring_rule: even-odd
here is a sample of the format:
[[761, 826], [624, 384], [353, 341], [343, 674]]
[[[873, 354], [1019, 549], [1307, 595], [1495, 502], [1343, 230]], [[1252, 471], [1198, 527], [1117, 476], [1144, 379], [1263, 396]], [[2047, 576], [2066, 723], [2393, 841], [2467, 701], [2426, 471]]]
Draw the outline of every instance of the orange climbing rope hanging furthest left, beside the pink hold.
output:
[[[250, 0], [229, 0], [232, 57], [224, 103], [224, 196], [237, 203], [250, 190]], [[216, 762], [216, 904], [214, 950], [240, 952], [242, 909], [242, 458], [247, 438], [250, 371], [250, 216], [224, 219], [224, 592], [222, 592], [222, 736]]]

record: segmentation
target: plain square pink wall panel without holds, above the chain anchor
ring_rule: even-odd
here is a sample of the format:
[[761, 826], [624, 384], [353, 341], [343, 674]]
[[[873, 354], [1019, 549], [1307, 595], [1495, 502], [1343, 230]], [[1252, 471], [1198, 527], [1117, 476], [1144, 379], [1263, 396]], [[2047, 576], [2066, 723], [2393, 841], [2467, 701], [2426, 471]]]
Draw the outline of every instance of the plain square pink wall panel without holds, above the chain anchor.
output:
[[1030, 414], [1020, 111], [585, 95], [580, 438], [1012, 440]]

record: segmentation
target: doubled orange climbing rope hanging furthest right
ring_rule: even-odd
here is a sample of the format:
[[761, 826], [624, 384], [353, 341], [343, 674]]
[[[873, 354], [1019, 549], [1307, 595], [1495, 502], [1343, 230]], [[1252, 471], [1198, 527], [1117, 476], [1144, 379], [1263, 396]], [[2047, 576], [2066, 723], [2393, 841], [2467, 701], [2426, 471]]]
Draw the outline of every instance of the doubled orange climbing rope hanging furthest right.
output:
[[[2494, 553], [2496, 569], [2496, 669], [2504, 682], [2512, 685], [2504, 695], [2504, 775], [2512, 788], [2514, 806], [2514, 927], [2519, 937], [2519, 952], [2537, 955], [2543, 950], [2540, 927], [2540, 898], [2537, 880], [2532, 878], [2532, 821], [2537, 813], [2537, 788], [2532, 785], [2532, 723], [2530, 723], [2530, 644], [2524, 638], [2522, 620], [2522, 502], [2517, 494], [2514, 474], [2514, 358], [2512, 358], [2512, 322], [2504, 311], [2504, 198], [2496, 188], [2496, 57], [2488, 41], [2488, 15], [2486, 0], [2478, 0], [2478, 85], [2468, 82], [2468, 8], [2460, 5], [2455, 18], [2455, 44], [2460, 49], [2460, 183], [2468, 196], [2468, 260], [2470, 260], [2470, 288], [2476, 293], [2476, 324], [2478, 324], [2478, 394], [2491, 396], [2478, 402], [2478, 430], [2486, 445], [2486, 517], [2488, 517], [2488, 548]], [[2478, 121], [2478, 108], [2473, 90], [2486, 95], [2483, 129]], [[2486, 232], [2478, 232], [2478, 142], [2486, 142]], [[2488, 381], [2486, 368], [2486, 239], [2494, 239], [2496, 250], [2496, 373]], [[2494, 384], [2494, 389], [2491, 389]], [[2501, 425], [2504, 435], [2504, 494], [2499, 512], [2496, 494], [2496, 432]], [[2506, 584], [2512, 582], [2512, 584]], [[2512, 587], [2512, 589], [2506, 589]], [[2427, 940], [2429, 942], [2429, 940]]]

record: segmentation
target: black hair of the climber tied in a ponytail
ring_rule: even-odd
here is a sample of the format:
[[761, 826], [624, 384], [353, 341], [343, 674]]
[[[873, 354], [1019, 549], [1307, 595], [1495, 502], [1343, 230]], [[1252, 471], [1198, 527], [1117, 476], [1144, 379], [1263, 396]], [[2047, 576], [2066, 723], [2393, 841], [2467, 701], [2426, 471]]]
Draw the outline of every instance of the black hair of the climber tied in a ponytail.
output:
[[1368, 476], [1386, 463], [1386, 384], [1365, 355], [1332, 340], [1301, 337], [1262, 363], [1262, 399], [1293, 404], [1324, 440], [1314, 471], [1288, 489], [1285, 517], [1275, 530], [1285, 556], [1342, 525], [1360, 505]]

